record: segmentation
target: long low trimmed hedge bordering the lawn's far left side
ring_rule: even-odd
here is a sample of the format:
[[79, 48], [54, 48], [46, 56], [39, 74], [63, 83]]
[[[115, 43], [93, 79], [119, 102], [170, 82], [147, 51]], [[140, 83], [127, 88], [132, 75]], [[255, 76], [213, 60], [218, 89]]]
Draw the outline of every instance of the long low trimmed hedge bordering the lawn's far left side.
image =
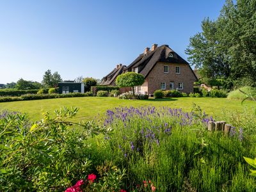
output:
[[67, 93], [67, 94], [26, 94], [20, 97], [0, 97], [0, 102], [11, 102], [18, 100], [38, 100], [38, 99], [56, 99], [56, 98], [67, 98], [67, 97], [92, 97], [91, 92], [86, 93]]

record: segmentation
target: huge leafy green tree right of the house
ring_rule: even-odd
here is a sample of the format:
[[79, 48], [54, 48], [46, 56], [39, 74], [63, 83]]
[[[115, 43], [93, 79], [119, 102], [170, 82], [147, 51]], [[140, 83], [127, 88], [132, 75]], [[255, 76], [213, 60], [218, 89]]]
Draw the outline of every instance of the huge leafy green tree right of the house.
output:
[[217, 20], [203, 20], [186, 49], [203, 80], [256, 86], [255, 12], [255, 0], [227, 0]]

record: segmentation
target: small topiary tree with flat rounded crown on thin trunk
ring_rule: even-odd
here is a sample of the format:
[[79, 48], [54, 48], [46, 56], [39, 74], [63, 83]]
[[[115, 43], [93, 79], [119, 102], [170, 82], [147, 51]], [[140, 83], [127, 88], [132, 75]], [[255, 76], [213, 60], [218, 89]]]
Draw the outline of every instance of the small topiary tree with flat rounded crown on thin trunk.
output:
[[134, 96], [134, 87], [140, 86], [145, 81], [144, 76], [135, 72], [127, 72], [116, 78], [116, 85], [119, 87], [131, 87]]

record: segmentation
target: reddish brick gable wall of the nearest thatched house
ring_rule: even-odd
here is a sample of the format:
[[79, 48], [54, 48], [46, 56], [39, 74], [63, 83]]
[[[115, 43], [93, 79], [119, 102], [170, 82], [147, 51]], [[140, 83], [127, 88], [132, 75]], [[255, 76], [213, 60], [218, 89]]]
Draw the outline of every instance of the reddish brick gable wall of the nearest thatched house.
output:
[[[168, 66], [168, 73], [164, 73], [164, 65]], [[180, 67], [180, 74], [176, 74], [175, 67]], [[161, 88], [161, 83], [166, 83], [166, 90], [170, 90], [170, 82], [173, 82], [174, 89], [177, 89], [178, 83], [183, 83], [183, 90], [180, 92], [193, 92], [193, 84], [196, 78], [187, 64], [163, 63], [158, 62], [148, 74], [145, 82], [148, 83], [148, 94], [154, 93]]]

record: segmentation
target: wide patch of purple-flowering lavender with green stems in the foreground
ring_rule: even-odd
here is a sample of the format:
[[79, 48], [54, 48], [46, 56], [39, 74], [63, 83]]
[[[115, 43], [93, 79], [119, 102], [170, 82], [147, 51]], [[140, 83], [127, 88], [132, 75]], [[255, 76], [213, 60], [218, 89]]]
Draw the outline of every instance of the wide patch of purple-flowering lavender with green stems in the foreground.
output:
[[95, 158], [127, 169], [126, 187], [152, 180], [158, 191], [253, 191], [243, 156], [254, 157], [243, 129], [229, 136], [205, 129], [212, 117], [181, 109], [115, 108], [104, 122], [115, 131], [93, 143]]

